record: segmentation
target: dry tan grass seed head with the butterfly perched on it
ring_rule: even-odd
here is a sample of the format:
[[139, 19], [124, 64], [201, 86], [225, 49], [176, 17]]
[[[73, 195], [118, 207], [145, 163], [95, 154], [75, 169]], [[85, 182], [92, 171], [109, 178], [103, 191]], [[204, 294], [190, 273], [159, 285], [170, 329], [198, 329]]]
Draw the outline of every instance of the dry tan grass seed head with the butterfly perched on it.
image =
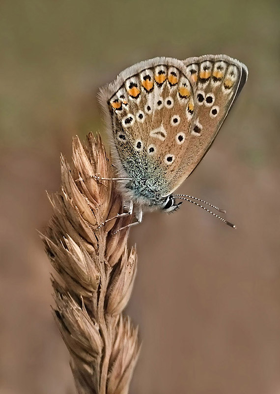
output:
[[70, 352], [79, 394], [126, 394], [139, 353], [138, 332], [125, 308], [134, 283], [137, 256], [128, 251], [128, 230], [115, 230], [130, 217], [100, 223], [122, 213], [111, 158], [100, 137], [83, 147], [73, 140], [73, 164], [61, 157], [61, 190], [50, 197], [54, 215], [42, 235], [56, 270], [52, 277], [55, 316]]

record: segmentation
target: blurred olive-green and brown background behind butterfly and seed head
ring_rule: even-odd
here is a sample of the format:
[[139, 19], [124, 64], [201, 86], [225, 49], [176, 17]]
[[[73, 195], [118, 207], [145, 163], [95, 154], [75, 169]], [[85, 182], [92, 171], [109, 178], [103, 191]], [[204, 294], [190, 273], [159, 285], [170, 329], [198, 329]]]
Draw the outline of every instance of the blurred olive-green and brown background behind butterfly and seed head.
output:
[[104, 133], [96, 93], [155, 56], [225, 53], [249, 80], [179, 192], [192, 204], [131, 231], [139, 270], [127, 310], [143, 346], [133, 394], [280, 393], [280, 2], [0, 2], [0, 393], [73, 394], [36, 232], [51, 216], [59, 153]]

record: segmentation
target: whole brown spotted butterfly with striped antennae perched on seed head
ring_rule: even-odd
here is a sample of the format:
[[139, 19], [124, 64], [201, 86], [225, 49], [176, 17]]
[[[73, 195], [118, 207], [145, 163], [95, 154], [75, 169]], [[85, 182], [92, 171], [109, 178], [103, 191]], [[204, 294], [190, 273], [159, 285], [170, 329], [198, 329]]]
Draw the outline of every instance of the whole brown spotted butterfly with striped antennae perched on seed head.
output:
[[225, 211], [174, 192], [207, 153], [247, 77], [247, 67], [226, 55], [158, 57], [126, 68], [101, 88], [118, 173], [112, 179], [128, 207], [117, 217], [134, 213], [132, 226], [143, 210], [172, 212], [182, 199], [235, 228], [200, 203]]

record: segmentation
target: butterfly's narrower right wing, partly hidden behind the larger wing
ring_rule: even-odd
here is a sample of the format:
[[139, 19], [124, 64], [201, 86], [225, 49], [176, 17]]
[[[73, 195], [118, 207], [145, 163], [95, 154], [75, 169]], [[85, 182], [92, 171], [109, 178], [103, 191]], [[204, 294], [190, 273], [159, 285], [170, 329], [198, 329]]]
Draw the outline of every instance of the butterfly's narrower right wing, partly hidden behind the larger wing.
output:
[[226, 55], [205, 55], [184, 61], [195, 84], [198, 109], [186, 146], [184, 176], [173, 179], [176, 189], [202, 160], [248, 77], [247, 67]]

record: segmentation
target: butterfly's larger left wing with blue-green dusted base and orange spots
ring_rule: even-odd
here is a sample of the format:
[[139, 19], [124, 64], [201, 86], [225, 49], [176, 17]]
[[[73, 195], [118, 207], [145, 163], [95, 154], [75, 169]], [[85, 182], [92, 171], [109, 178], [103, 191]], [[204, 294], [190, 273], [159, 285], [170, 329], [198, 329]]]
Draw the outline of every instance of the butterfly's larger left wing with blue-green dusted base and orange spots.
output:
[[193, 84], [183, 62], [155, 58], [122, 71], [101, 90], [121, 176], [134, 180], [136, 197], [170, 193], [195, 116]]

